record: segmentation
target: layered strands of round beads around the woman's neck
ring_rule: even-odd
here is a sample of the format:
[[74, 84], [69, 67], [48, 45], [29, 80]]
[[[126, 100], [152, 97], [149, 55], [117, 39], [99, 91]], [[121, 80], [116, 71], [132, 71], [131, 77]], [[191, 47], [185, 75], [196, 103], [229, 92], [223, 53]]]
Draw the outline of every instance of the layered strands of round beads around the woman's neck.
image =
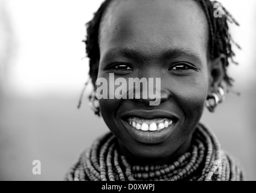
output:
[[118, 151], [117, 138], [107, 133], [81, 154], [65, 180], [235, 181], [245, 180], [245, 174], [237, 160], [220, 149], [216, 136], [199, 124], [190, 150], [170, 165], [130, 165]]

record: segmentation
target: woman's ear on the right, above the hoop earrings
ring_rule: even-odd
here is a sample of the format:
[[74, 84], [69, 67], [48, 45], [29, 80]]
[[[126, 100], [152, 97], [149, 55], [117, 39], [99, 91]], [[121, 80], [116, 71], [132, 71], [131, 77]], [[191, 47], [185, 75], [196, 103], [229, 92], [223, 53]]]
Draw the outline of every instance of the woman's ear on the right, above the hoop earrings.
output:
[[208, 62], [208, 75], [209, 75], [209, 90], [208, 95], [211, 93], [217, 93], [218, 87], [224, 78], [224, 66], [226, 57], [224, 54], [220, 54], [214, 60]]

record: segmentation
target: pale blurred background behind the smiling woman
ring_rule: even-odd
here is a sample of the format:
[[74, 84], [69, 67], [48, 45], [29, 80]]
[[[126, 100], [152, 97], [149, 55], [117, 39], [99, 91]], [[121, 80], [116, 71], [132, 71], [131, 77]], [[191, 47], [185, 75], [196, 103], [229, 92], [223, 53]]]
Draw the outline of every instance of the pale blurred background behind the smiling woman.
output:
[[[108, 131], [88, 106], [85, 23], [102, 0], [0, 0], [0, 180], [63, 180], [78, 154]], [[240, 23], [234, 90], [202, 122], [256, 180], [256, 1], [221, 0]], [[41, 175], [33, 175], [40, 160]]]

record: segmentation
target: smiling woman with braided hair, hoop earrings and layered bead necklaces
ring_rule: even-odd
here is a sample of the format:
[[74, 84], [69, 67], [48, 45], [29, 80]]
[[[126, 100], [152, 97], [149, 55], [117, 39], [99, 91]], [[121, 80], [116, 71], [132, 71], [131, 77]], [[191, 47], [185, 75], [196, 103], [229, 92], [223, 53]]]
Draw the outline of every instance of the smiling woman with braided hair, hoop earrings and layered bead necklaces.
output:
[[[101, 5], [88, 23], [85, 43], [94, 84], [91, 106], [111, 132], [80, 156], [66, 180], [245, 179], [237, 161], [199, 123], [204, 106], [214, 112], [232, 86], [226, 72], [234, 56], [227, 21], [235, 21], [214, 7], [208, 0]], [[153, 86], [159, 104], [142, 97], [144, 88], [139, 98], [110, 97], [118, 89], [114, 84], [110, 90], [110, 75], [127, 82], [160, 78], [161, 89]], [[106, 80], [107, 98], [98, 97], [104, 92], [98, 90], [99, 78]]]

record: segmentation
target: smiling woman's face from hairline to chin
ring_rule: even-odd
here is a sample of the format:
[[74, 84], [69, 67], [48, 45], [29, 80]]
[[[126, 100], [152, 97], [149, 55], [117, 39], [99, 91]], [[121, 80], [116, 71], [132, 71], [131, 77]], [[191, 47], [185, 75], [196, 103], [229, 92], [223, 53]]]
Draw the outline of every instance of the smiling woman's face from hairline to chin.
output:
[[146, 99], [100, 100], [101, 115], [128, 157], [161, 162], [187, 150], [208, 93], [207, 37], [206, 17], [194, 1], [111, 5], [101, 24], [98, 78], [161, 78], [158, 106]]

